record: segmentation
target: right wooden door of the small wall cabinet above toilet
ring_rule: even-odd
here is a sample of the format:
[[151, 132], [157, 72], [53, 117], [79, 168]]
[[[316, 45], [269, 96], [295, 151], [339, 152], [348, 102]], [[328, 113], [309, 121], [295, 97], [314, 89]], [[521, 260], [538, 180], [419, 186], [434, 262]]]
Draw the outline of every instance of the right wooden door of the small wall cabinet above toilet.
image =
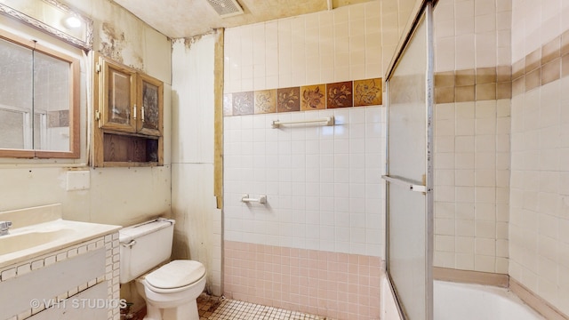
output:
[[137, 94], [140, 106], [140, 116], [137, 120], [138, 132], [162, 136], [164, 84], [151, 76], [139, 74]]

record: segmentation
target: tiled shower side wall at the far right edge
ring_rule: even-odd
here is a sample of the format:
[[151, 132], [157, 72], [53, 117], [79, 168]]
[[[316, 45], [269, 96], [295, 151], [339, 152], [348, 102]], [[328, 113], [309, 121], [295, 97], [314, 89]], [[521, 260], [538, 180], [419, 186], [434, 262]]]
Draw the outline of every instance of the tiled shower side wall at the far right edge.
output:
[[514, 1], [509, 275], [569, 315], [569, 2]]

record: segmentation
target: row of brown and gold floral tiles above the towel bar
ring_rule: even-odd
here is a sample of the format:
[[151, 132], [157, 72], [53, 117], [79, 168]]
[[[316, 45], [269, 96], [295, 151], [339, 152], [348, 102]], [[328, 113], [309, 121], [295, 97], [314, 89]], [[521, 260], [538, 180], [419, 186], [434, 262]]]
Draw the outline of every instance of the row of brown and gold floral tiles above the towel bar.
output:
[[223, 116], [351, 108], [382, 104], [382, 78], [223, 95]]

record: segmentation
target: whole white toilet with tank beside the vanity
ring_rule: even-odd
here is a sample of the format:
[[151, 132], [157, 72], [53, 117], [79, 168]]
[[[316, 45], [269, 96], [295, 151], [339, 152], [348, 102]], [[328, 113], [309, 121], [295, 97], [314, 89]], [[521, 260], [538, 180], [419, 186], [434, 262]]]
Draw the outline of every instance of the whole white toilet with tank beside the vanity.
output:
[[205, 268], [193, 260], [167, 262], [174, 223], [158, 218], [119, 230], [120, 283], [136, 281], [147, 304], [145, 320], [199, 320], [196, 299], [204, 291]]

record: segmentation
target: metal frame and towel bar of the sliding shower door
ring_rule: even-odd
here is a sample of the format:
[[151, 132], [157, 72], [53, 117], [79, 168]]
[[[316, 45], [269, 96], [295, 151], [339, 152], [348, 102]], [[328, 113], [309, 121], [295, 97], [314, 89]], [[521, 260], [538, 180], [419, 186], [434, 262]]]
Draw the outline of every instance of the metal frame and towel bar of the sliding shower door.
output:
[[[405, 315], [404, 308], [402, 307], [402, 301], [397, 293], [397, 287], [394, 283], [394, 279], [390, 274], [389, 270], [389, 184], [394, 183], [398, 185], [405, 185], [406, 188], [409, 188], [411, 192], [422, 192], [425, 194], [425, 213], [426, 213], [426, 226], [425, 226], [425, 320], [433, 320], [433, 276], [432, 276], [432, 268], [433, 268], [433, 252], [434, 252], [434, 106], [435, 106], [435, 99], [434, 99], [434, 44], [433, 44], [433, 11], [434, 7], [437, 4], [437, 0], [421, 0], [415, 4], [413, 8], [413, 12], [415, 12], [412, 16], [412, 19], [409, 20], [407, 24], [406, 34], [405, 37], [401, 40], [399, 45], [397, 46], [397, 52], [394, 56], [393, 60], [391, 60], [388, 68], [388, 73], [385, 76], [385, 84], [386, 84], [386, 94], [387, 94], [387, 101], [388, 101], [388, 108], [387, 108], [387, 130], [386, 130], [386, 175], [382, 176], [384, 180], [386, 180], [386, 276], [389, 283], [389, 289], [393, 294], [393, 297], [397, 304], [397, 310], [399, 312], [399, 316], [403, 320], [414, 320], [409, 319]], [[410, 44], [411, 40], [413, 39], [413, 35], [415, 34], [417, 28], [420, 26], [421, 20], [424, 20], [426, 33], [427, 33], [427, 69], [426, 69], [426, 77], [425, 77], [425, 103], [426, 103], [426, 150], [425, 150], [425, 158], [426, 158], [426, 167], [425, 167], [425, 179], [424, 185], [417, 185], [413, 184], [413, 181], [407, 181], [405, 179], [401, 179], [399, 177], [389, 177], [389, 79], [393, 76], [398, 62], [401, 60], [403, 55], [405, 54], [405, 50], [407, 49], [408, 45]]]

